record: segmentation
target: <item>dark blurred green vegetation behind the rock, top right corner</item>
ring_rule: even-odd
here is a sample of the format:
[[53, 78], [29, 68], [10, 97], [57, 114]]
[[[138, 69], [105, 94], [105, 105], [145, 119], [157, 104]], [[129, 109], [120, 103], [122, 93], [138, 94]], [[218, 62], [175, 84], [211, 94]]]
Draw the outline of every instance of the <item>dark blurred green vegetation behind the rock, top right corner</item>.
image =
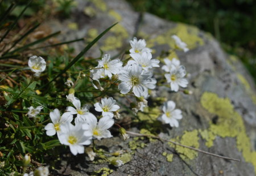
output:
[[256, 1], [127, 0], [135, 10], [212, 33], [229, 54], [240, 57], [256, 81]]

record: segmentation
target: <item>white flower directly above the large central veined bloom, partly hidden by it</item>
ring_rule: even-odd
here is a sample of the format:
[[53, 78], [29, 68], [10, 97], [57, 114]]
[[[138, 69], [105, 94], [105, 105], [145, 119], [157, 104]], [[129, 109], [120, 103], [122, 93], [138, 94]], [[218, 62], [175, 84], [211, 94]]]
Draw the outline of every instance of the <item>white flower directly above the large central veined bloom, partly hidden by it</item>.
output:
[[152, 67], [159, 67], [158, 63], [160, 62], [158, 59], [152, 59], [152, 54], [151, 53], [132, 53], [130, 56], [134, 60], [128, 61], [127, 65], [132, 65], [136, 63], [137, 65], [141, 65], [143, 70], [148, 70]]

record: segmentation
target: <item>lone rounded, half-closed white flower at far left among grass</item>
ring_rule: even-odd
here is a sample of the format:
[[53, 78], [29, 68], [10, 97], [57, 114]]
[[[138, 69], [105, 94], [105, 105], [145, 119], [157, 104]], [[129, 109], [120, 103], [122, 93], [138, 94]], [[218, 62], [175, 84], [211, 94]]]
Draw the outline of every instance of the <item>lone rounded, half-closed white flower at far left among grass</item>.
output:
[[37, 57], [33, 55], [28, 60], [28, 67], [30, 67], [31, 71], [35, 72], [35, 76], [40, 76], [41, 72], [46, 70], [46, 61], [42, 57]]

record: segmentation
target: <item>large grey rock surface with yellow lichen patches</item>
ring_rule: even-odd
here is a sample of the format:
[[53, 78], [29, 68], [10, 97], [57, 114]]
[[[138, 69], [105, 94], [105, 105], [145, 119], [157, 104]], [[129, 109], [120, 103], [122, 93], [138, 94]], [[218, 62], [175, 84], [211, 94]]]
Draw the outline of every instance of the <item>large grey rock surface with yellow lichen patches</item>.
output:
[[[81, 0], [77, 3], [71, 19], [47, 22], [52, 31], [60, 29], [63, 32], [62, 40], [85, 37], [89, 42], [119, 22], [86, 56], [100, 57], [99, 49], [114, 56], [129, 49], [129, 40], [137, 36], [144, 38], [147, 46], [154, 50], [154, 58], [179, 58], [191, 74], [188, 88], [193, 95], [170, 93], [165, 87], [156, 91], [157, 97], [175, 101], [177, 108], [183, 111], [179, 128], [159, 124], [154, 115], [160, 113], [159, 106], [150, 108], [146, 115], [138, 113], [141, 122], [139, 125], [132, 123], [130, 131], [160, 133], [164, 139], [239, 158], [241, 162], [208, 156], [158, 140], [131, 138], [123, 141], [116, 133], [114, 138], [96, 144], [110, 153], [124, 150], [121, 157], [127, 162], [125, 165], [115, 168], [104, 160], [87, 161], [86, 154], [76, 157], [64, 154], [54, 175], [255, 175], [255, 88], [238, 58], [224, 53], [208, 33], [151, 14], [140, 15], [125, 1]], [[79, 28], [67, 28], [70, 23], [77, 23]], [[190, 50], [187, 53], [172, 51], [171, 35], [174, 34], [188, 44]], [[84, 46], [83, 42], [74, 44], [77, 52]]]

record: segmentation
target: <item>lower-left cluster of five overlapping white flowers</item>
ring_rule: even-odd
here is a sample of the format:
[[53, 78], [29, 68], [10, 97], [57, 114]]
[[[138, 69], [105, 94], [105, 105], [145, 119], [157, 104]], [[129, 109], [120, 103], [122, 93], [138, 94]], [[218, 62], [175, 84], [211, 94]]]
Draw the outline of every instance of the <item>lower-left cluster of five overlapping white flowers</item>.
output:
[[[72, 104], [75, 108], [68, 106], [67, 112], [62, 115], [59, 109], [49, 114], [52, 123], [44, 127], [46, 134], [53, 136], [57, 133], [60, 143], [68, 145], [74, 155], [84, 153], [83, 145], [89, 145], [92, 139], [112, 137], [109, 128], [114, 124], [114, 112], [120, 108], [115, 102], [110, 97], [102, 98], [101, 104], [94, 104], [95, 110], [102, 112], [102, 117], [97, 121], [96, 116], [89, 112], [89, 106], [81, 106], [79, 98], [74, 97]], [[75, 126], [72, 124], [73, 115], [76, 115]]]

